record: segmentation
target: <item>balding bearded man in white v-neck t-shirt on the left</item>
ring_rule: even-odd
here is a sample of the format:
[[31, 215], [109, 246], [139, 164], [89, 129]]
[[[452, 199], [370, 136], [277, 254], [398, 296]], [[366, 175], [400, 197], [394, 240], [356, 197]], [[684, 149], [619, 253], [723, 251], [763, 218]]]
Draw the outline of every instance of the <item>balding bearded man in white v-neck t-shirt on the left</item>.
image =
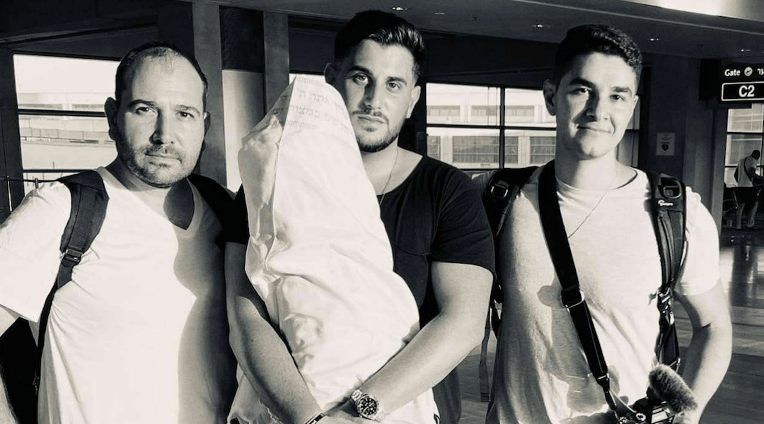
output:
[[[215, 243], [222, 223], [206, 190], [186, 179], [209, 126], [206, 88], [196, 60], [164, 43], [131, 50], [118, 66], [105, 103], [117, 159], [96, 170], [108, 206], [53, 298], [41, 423], [225, 422], [235, 358]], [[53, 182], [0, 226], [2, 331], [19, 316], [39, 323], [71, 204], [69, 189]], [[0, 422], [14, 422], [0, 411]]]

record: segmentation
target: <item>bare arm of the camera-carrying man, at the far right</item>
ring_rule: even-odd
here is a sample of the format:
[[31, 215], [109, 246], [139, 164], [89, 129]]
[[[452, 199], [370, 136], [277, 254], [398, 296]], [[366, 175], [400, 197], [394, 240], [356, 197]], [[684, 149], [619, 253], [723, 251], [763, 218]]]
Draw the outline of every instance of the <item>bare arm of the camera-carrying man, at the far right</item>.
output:
[[677, 299], [690, 317], [692, 339], [685, 355], [682, 377], [698, 400], [698, 411], [688, 422], [700, 419], [727, 373], [732, 356], [732, 323], [721, 284], [701, 294]]

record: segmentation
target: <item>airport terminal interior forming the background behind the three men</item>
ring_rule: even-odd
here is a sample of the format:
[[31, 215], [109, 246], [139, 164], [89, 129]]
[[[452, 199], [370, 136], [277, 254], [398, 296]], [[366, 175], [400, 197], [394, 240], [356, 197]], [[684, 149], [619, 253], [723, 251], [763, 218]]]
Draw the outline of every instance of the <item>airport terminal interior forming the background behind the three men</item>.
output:
[[[32, 188], [114, 159], [103, 104], [121, 56], [153, 40], [199, 59], [212, 127], [197, 171], [235, 191], [241, 137], [295, 75], [322, 79], [335, 32], [367, 9], [400, 14], [426, 39], [422, 96], [400, 146], [468, 174], [554, 157], [541, 87], [569, 27], [610, 24], [636, 40], [645, 66], [617, 157], [681, 178], [719, 230], [733, 359], [701, 422], [764, 422], [764, 205], [738, 220], [745, 201], [733, 175], [764, 147], [759, 0], [0, 2], [0, 222]], [[756, 171], [764, 174], [762, 159]], [[691, 326], [681, 307], [677, 316], [686, 347]], [[466, 424], [484, 422], [487, 406], [479, 352], [459, 365]]]

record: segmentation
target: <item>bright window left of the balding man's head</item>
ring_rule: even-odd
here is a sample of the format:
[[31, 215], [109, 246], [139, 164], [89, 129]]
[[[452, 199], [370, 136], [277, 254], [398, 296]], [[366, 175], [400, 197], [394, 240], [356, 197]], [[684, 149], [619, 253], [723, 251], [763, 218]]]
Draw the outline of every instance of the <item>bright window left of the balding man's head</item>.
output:
[[[24, 180], [49, 181], [114, 160], [103, 105], [114, 96], [117, 65], [14, 55]], [[26, 190], [34, 184], [26, 184]]]

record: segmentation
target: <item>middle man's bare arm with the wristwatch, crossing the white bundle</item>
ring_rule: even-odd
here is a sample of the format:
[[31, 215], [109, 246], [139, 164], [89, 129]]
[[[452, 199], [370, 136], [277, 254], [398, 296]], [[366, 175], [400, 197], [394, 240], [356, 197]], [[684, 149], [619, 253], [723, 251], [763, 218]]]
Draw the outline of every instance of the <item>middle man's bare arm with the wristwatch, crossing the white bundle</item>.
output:
[[[390, 413], [435, 386], [483, 339], [493, 276], [477, 265], [432, 263], [439, 310], [380, 371], [361, 385]], [[344, 408], [348, 410], [348, 408]], [[345, 416], [338, 412], [339, 416]]]

